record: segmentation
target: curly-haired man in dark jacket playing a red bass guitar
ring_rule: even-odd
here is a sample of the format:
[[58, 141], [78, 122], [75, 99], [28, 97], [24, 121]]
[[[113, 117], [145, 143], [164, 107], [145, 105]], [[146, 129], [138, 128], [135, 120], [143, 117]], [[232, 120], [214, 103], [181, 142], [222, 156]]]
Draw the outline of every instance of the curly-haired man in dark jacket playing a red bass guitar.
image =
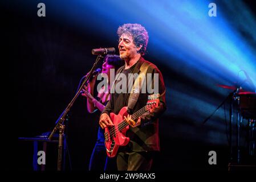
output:
[[[128, 106], [128, 115], [124, 117], [124, 120], [130, 126], [126, 134], [130, 141], [126, 146], [119, 147], [117, 152], [117, 169], [121, 171], [145, 171], [151, 169], [153, 154], [155, 151], [160, 150], [158, 118], [166, 110], [164, 80], [156, 65], [144, 60], [142, 57], [146, 52], [148, 44], [148, 32], [143, 26], [140, 24], [123, 24], [123, 26], [118, 28], [117, 34], [119, 36], [118, 48], [120, 58], [125, 60], [125, 65], [118, 69], [117, 74], [123, 73], [127, 79], [117, 79], [114, 84], [117, 85], [120, 81], [125, 80], [125, 84], [122, 85], [127, 86], [127, 92], [112, 93], [111, 100], [108, 101], [107, 106], [101, 113], [99, 125], [102, 129], [105, 127], [111, 129], [113, 122], [109, 114], [118, 114], [122, 107]], [[149, 93], [149, 90], [147, 92], [141, 92], [143, 89], [139, 90], [139, 94], [133, 94], [133, 96], [129, 92], [128, 74], [140, 74], [141, 72], [146, 73], [147, 84], [150, 81], [151, 86], [158, 86], [157, 90], [159, 93], [153, 94], [159, 96], [160, 103], [152, 112], [147, 111], [137, 121], [133, 121], [131, 114], [136, 113], [136, 111], [144, 107], [147, 104], [149, 96], [152, 95], [152, 93]], [[148, 78], [147, 75], [152, 77]], [[157, 81], [154, 75], [157, 75]], [[135, 82], [133, 81], [133, 84]], [[154, 84], [154, 82], [157, 82], [157, 84]], [[133, 99], [130, 99], [131, 96]]]

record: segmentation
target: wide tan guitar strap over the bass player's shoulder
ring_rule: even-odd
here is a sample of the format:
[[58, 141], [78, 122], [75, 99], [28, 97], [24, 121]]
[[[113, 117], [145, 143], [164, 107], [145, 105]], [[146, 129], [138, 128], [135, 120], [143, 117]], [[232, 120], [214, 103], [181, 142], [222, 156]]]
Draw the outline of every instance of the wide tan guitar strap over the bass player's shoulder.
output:
[[[146, 85], [146, 77], [147, 77], [147, 71], [149, 68], [150, 63], [144, 62], [141, 67], [140, 67], [140, 73], [139, 76], [135, 79], [135, 82], [132, 86], [132, 88], [128, 88], [130, 95], [129, 95], [129, 100], [128, 100], [128, 110], [132, 111], [134, 109], [134, 106], [137, 103], [137, 100], [140, 96], [141, 92], [141, 87], [142, 86], [147, 86]], [[129, 79], [129, 82], [133, 81]], [[128, 111], [128, 113], [129, 113]]]

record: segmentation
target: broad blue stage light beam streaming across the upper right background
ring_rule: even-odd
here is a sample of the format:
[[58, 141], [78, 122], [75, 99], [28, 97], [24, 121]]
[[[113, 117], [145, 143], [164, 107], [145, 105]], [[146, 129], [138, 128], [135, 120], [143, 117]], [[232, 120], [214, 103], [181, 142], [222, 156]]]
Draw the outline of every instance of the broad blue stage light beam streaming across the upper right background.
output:
[[[246, 71], [256, 85], [256, 21], [242, 1], [216, 1], [216, 17], [208, 15], [209, 3], [211, 1], [46, 1], [51, 5], [53, 18], [81, 31], [95, 31], [110, 41], [117, 40], [116, 30], [121, 24], [143, 24], [149, 32], [150, 56], [165, 58], [159, 60], [166, 68], [225, 98], [227, 92], [214, 84], [243, 83], [246, 76], [241, 70]], [[56, 4], [58, 11], [54, 11]], [[251, 39], [242, 36], [241, 31]], [[196, 96], [192, 92], [198, 90], [183, 84], [175, 89], [166, 85], [167, 102], [178, 105], [167, 114], [182, 115], [186, 110], [187, 115], [193, 116], [192, 108], [196, 108], [204, 118], [221, 102], [216, 98], [210, 100], [207, 93]], [[179, 102], [182, 98], [184, 102]], [[221, 113], [220, 109], [216, 117], [222, 117]], [[200, 118], [195, 117], [194, 121], [200, 122]], [[224, 127], [222, 125], [222, 129]]]

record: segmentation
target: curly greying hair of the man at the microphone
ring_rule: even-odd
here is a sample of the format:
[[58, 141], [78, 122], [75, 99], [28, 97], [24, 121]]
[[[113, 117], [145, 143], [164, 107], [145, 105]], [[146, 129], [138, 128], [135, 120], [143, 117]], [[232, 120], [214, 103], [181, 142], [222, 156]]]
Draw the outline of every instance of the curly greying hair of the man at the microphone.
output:
[[145, 55], [147, 45], [148, 45], [148, 32], [145, 29], [145, 27], [137, 23], [123, 24], [118, 28], [117, 35], [120, 38], [120, 36], [124, 33], [128, 33], [129, 35], [132, 36], [133, 42], [135, 43], [136, 46], [142, 45], [141, 49], [139, 50], [139, 53], [141, 55]]

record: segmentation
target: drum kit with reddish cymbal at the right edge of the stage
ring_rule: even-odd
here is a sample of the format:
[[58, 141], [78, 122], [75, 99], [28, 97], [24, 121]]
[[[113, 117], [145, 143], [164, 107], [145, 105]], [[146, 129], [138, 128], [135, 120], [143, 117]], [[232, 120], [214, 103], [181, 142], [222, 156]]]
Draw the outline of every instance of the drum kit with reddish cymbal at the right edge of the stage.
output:
[[[233, 107], [237, 108], [237, 163], [240, 163], [240, 126], [243, 119], [247, 120], [247, 141], [248, 152], [250, 156], [255, 156], [255, 131], [256, 131], [256, 93], [243, 90], [237, 86], [217, 85], [224, 89], [233, 90], [230, 93], [230, 125], [229, 125], [229, 144], [230, 144], [230, 161], [233, 160], [232, 151], [232, 123], [233, 123]], [[231, 96], [231, 97], [230, 97]], [[226, 99], [227, 100], [227, 99]], [[226, 101], [225, 100], [225, 101]]]

